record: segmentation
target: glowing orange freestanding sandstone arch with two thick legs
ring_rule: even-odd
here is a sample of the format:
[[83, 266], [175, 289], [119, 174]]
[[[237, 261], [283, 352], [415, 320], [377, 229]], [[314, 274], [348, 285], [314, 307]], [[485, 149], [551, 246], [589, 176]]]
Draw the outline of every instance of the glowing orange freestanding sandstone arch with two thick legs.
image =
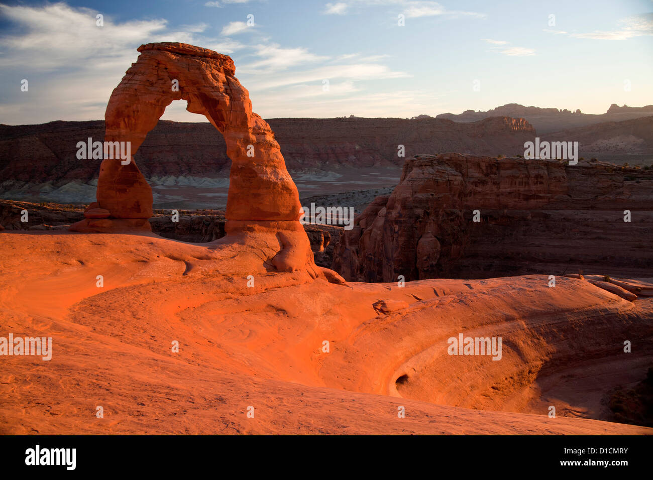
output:
[[[295, 183], [270, 125], [252, 112], [249, 93], [235, 78], [231, 57], [172, 42], [141, 45], [138, 52], [104, 115], [104, 140], [131, 142], [131, 162], [103, 160], [97, 202], [71, 230], [150, 231], [151, 188], [133, 155], [165, 108], [174, 100], [185, 100], [189, 112], [206, 116], [222, 133], [232, 161], [225, 227], [229, 238], [221, 245], [251, 244], [253, 237], [264, 237], [266, 246], [270, 240], [278, 246], [268, 258], [278, 270], [300, 270], [307, 264], [317, 270], [299, 223], [301, 204]], [[173, 80], [178, 80], [178, 91], [172, 88]]]

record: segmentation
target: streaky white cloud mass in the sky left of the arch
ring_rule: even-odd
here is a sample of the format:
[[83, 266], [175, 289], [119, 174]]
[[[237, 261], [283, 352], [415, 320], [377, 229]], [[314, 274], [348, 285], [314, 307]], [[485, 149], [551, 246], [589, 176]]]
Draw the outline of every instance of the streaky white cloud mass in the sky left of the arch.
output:
[[104, 14], [99, 27], [98, 13], [65, 3], [0, 4], [0, 18], [8, 24], [0, 37], [0, 71], [29, 81], [27, 92], [0, 92], [0, 123], [104, 118], [106, 102], [136, 61], [140, 44], [185, 42], [223, 52], [240, 47], [202, 36], [204, 24], [183, 31], [170, 29], [164, 19], [117, 22]]

